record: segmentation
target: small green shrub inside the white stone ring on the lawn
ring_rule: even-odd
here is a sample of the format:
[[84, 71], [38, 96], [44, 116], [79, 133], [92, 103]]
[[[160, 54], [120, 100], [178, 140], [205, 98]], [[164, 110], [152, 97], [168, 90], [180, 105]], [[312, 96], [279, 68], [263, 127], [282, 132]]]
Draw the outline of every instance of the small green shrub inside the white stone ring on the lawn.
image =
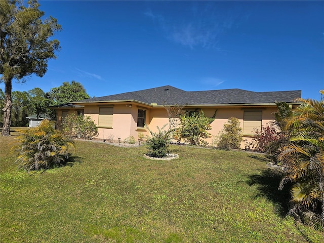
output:
[[147, 147], [146, 154], [151, 157], [165, 157], [167, 153], [169, 153], [169, 143], [170, 138], [168, 131], [164, 131], [165, 127], [167, 125], [164, 125], [161, 129], [157, 127], [158, 132], [154, 133], [152, 132], [147, 126], [146, 129], [149, 131], [152, 137], [148, 137], [145, 141], [145, 145]]

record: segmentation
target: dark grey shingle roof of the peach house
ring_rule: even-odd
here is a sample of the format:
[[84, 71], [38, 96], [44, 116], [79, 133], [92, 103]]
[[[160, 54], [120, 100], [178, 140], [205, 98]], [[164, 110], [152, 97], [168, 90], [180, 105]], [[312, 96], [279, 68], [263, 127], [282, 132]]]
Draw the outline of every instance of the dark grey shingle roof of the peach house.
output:
[[127, 92], [116, 95], [102, 96], [73, 103], [109, 102], [109, 101], [140, 101], [158, 105], [213, 105], [213, 104], [260, 104], [277, 101], [294, 102], [301, 97], [301, 91], [253, 92], [240, 89], [184, 91], [172, 86]]

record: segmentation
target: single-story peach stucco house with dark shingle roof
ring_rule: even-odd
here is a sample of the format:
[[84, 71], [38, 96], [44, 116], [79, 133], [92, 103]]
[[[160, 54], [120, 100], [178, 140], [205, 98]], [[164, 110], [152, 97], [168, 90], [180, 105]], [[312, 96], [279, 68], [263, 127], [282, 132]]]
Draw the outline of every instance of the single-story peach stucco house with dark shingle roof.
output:
[[[139, 133], [149, 135], [145, 124], [153, 132], [169, 122], [166, 105], [185, 105], [185, 111], [203, 110], [215, 120], [211, 124], [212, 136], [217, 135], [228, 118], [239, 119], [244, 139], [251, 139], [254, 128], [261, 129], [274, 119], [275, 102], [284, 101], [295, 108], [300, 103], [301, 91], [252, 92], [240, 89], [184, 91], [172, 86], [163, 86], [122, 94], [115, 94], [72, 102], [52, 107], [57, 111], [57, 123], [68, 113], [91, 117], [98, 126], [98, 138], [138, 138]], [[206, 140], [211, 143], [212, 138]]]

